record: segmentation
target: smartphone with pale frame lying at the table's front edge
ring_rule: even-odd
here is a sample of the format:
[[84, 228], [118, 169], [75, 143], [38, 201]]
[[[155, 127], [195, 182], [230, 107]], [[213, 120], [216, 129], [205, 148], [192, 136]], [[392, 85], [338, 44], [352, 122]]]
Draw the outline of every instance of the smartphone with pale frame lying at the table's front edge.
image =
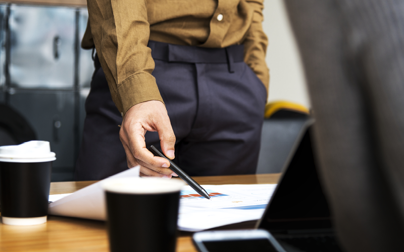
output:
[[286, 252], [270, 232], [262, 229], [197, 232], [192, 241], [199, 252]]

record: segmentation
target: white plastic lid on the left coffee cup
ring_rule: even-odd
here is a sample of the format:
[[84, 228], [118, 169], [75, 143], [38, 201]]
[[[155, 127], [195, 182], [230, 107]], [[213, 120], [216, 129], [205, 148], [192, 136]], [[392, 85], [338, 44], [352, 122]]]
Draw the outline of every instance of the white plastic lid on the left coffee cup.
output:
[[29, 141], [20, 145], [0, 146], [0, 161], [13, 163], [38, 163], [56, 160], [55, 153], [46, 141]]

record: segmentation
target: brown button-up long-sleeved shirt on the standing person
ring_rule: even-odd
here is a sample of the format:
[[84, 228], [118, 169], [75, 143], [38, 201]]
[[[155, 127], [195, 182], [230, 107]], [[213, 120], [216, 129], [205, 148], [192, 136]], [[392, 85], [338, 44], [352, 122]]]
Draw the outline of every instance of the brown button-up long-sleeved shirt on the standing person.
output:
[[95, 45], [112, 99], [123, 114], [133, 105], [163, 99], [148, 40], [222, 48], [244, 45], [244, 61], [268, 90], [264, 0], [87, 0], [83, 48]]

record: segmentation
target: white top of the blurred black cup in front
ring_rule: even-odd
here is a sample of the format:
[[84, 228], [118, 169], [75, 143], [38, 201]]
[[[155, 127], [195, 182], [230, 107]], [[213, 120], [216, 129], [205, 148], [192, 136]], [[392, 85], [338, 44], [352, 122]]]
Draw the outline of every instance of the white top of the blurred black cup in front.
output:
[[180, 179], [120, 177], [106, 180], [105, 191], [118, 194], [165, 194], [181, 191], [185, 182]]

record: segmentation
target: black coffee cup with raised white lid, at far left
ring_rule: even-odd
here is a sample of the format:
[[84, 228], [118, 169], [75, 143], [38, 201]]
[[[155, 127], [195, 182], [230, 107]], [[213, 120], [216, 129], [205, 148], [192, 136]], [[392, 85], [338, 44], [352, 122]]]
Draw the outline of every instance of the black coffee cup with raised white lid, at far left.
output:
[[3, 224], [46, 222], [52, 161], [49, 142], [0, 147], [0, 206]]

